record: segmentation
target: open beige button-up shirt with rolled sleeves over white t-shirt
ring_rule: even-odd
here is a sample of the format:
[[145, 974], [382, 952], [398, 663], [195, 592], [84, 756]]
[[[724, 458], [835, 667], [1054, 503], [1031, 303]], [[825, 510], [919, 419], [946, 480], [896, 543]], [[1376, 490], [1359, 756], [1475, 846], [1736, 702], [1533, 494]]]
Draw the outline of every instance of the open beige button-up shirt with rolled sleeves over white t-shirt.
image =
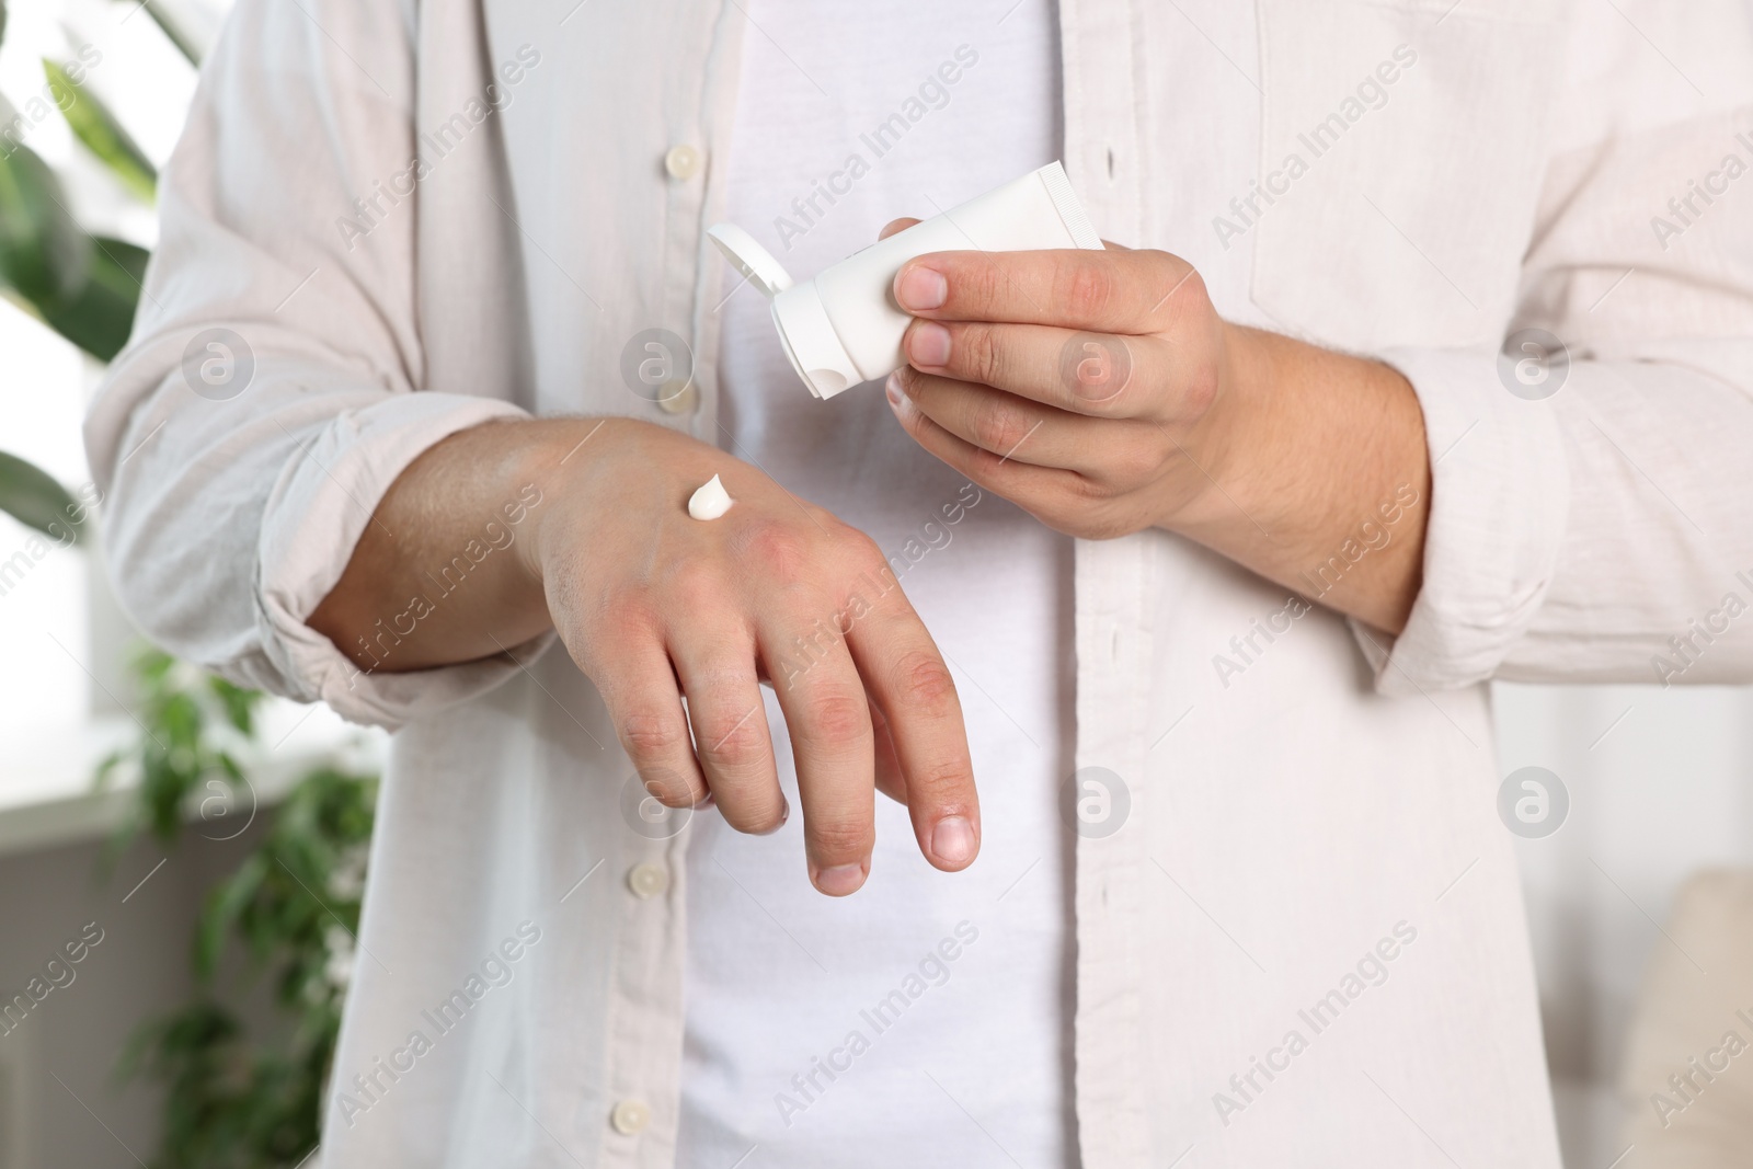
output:
[[[1124, 796], [1076, 840], [1082, 1158], [1553, 1167], [1483, 682], [1753, 678], [1749, 16], [1255, 7], [1238, 37], [1215, 2], [1061, 0], [1066, 168], [1106, 238], [1224, 273], [1229, 317], [1406, 372], [1425, 584], [1390, 640], [1166, 533], [1078, 545], [1078, 766]], [[398, 727], [330, 1165], [673, 1162], [687, 834], [640, 818], [593, 687], [543, 641], [359, 673], [303, 622], [449, 433], [715, 442], [703, 231], [750, 35], [735, 0], [244, 0], [167, 172], [88, 429], [123, 598], [184, 655]], [[1178, 68], [1210, 53], [1227, 89]], [[1213, 198], [1201, 138], [1241, 131], [1257, 181]], [[622, 375], [652, 328], [692, 352], [668, 410]], [[1564, 349], [1501, 359], [1530, 328]], [[1362, 510], [1308, 599], [1395, 515]]]

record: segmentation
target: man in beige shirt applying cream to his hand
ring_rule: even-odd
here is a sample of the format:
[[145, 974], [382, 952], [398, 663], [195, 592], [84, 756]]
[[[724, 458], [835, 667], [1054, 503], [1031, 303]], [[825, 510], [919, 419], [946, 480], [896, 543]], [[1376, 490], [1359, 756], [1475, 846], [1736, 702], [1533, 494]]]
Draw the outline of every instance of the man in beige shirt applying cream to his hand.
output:
[[[1749, 61], [245, 0], [89, 445], [154, 636], [398, 727], [326, 1164], [1557, 1165], [1483, 682], [1648, 678], [1753, 563]], [[826, 403], [705, 238], [1055, 156], [1111, 247], [910, 263]]]

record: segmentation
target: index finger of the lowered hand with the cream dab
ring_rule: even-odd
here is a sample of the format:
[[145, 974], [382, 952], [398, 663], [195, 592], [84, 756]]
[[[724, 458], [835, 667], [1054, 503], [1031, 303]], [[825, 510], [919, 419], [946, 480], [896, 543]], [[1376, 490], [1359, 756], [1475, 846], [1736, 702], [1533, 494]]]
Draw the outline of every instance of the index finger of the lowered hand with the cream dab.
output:
[[962, 705], [899, 584], [852, 617], [847, 648], [889, 724], [919, 850], [947, 873], [966, 869], [980, 854], [980, 796]]

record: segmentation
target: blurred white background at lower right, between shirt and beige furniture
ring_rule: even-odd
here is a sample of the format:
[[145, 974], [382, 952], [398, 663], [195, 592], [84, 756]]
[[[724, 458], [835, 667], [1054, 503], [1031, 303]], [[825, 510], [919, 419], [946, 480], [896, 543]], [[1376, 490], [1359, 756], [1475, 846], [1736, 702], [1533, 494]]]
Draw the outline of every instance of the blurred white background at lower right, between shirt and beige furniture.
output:
[[[1753, 864], [1753, 691], [1494, 687], [1499, 773], [1543, 766], [1564, 827], [1516, 841], [1565, 1164], [1623, 1151], [1615, 1076], [1644, 966], [1681, 882]], [[1644, 1085], [1632, 1108], [1648, 1108]]]

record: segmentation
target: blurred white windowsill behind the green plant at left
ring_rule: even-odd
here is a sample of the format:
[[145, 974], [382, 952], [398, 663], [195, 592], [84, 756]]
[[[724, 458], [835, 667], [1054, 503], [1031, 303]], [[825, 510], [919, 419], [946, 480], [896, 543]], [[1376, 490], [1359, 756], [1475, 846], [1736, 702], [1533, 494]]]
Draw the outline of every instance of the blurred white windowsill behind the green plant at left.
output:
[[[258, 715], [259, 747], [238, 757], [258, 810], [277, 804], [310, 768], [338, 754], [358, 766], [382, 766], [386, 736], [342, 722], [326, 706], [270, 699]], [[119, 827], [133, 808], [135, 780], [117, 776], [100, 792], [91, 776], [105, 755], [130, 747], [138, 734], [140, 727], [128, 715], [107, 715], [7, 743], [7, 768], [0, 775], [0, 857], [96, 840]], [[245, 799], [231, 815], [249, 811]], [[198, 810], [189, 808], [189, 820], [198, 818]]]

